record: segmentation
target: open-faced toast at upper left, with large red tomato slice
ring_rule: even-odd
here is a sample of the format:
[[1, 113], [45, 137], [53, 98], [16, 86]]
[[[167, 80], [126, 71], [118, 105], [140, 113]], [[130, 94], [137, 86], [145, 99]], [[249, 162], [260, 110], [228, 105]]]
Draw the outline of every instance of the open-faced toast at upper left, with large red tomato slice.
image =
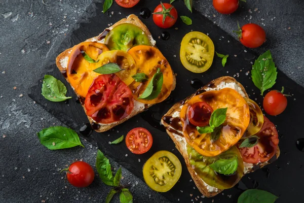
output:
[[109, 130], [170, 95], [175, 75], [155, 44], [130, 15], [56, 58], [93, 129]]

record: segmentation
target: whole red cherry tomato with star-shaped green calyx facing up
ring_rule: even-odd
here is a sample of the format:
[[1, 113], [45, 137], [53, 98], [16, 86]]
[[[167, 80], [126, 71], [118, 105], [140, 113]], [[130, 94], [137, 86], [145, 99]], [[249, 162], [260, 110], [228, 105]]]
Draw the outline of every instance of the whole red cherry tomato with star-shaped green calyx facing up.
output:
[[[164, 3], [163, 5], [166, 9], [173, 7], [171, 4], [168, 4], [168, 3]], [[163, 7], [160, 4], [155, 8], [154, 13], [162, 12], [162, 11], [163, 11]], [[161, 28], [172, 27], [176, 23], [176, 20], [177, 20], [177, 11], [174, 7], [171, 9], [170, 15], [173, 16], [173, 18], [170, 16], [166, 16], [165, 22], [163, 23], [164, 16], [162, 14], [153, 14], [153, 21], [157, 26], [159, 26]]]

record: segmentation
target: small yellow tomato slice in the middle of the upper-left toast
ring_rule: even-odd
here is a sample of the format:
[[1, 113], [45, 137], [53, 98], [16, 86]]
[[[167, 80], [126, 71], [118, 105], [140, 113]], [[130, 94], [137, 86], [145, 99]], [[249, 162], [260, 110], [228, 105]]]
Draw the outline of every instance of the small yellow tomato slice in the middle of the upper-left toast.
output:
[[100, 54], [97, 59], [99, 61], [96, 63], [96, 68], [107, 63], [117, 63], [124, 70], [116, 73], [116, 75], [126, 85], [130, 85], [134, 81], [132, 76], [136, 74], [136, 64], [127, 52], [121, 50], [106, 51]]

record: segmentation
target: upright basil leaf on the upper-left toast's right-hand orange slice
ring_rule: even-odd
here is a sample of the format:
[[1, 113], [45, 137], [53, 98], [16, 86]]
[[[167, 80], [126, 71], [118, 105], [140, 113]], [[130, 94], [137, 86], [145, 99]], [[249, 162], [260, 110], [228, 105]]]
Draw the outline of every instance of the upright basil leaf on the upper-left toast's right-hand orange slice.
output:
[[144, 92], [138, 98], [142, 98], [146, 100], [155, 99], [161, 93], [163, 80], [164, 80], [163, 73], [159, 68], [156, 74], [154, 74], [152, 80], [150, 80]]

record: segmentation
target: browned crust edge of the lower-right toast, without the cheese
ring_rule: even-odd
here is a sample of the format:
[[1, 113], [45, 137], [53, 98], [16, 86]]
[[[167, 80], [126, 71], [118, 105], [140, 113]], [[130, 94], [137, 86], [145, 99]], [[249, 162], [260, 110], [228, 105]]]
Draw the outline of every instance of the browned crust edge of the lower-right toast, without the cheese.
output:
[[[245, 94], [245, 98], [249, 98], [248, 94], [246, 93], [245, 88], [243, 87], [243, 85], [241, 83], [239, 83], [235, 78], [229, 77], [229, 76], [224, 76], [224, 77], [220, 77], [217, 78], [213, 81], [211, 81], [210, 83], [206, 84], [204, 87], [200, 88], [197, 92], [200, 91], [204, 91], [206, 90], [208, 87], [216, 87], [218, 86], [221, 82], [225, 82], [225, 83], [236, 83], [244, 92]], [[196, 92], [196, 93], [197, 93]], [[174, 133], [172, 131], [170, 131], [170, 125], [165, 121], [165, 117], [172, 117], [172, 115], [174, 114], [174, 112], [178, 111], [180, 112], [180, 106], [184, 103], [186, 103], [189, 99], [191, 99], [192, 97], [194, 97], [196, 95], [196, 93], [186, 97], [184, 100], [174, 104], [171, 109], [163, 116], [161, 123], [165, 126], [166, 131], [169, 135], [169, 137], [173, 140], [177, 150], [181, 153], [181, 155], [183, 156], [187, 169], [193, 179], [193, 181], [195, 182], [196, 186], [198, 187], [198, 189], [200, 190], [200, 192], [206, 196], [206, 197], [213, 197], [217, 194], [219, 194], [220, 192], [222, 192], [223, 190], [221, 189], [217, 189], [217, 191], [209, 191], [207, 189], [207, 186], [204, 184], [204, 182], [202, 181], [202, 179], [197, 175], [197, 173], [194, 171], [194, 169], [192, 168], [192, 165], [189, 162], [189, 158], [188, 158], [188, 154], [187, 151], [184, 149], [184, 147], [182, 146], [182, 142], [183, 141], [179, 141], [176, 139], [176, 137], [174, 136]], [[277, 148], [277, 153], [276, 153], [276, 158], [278, 158], [280, 156], [280, 149], [279, 146]], [[263, 162], [263, 163], [259, 163], [256, 165], [256, 167], [251, 168], [251, 170], [248, 170], [246, 172], [246, 174], [254, 172], [255, 170], [257, 170], [258, 168], [261, 168], [265, 165], [268, 165], [270, 163], [270, 161], [268, 162]]]

